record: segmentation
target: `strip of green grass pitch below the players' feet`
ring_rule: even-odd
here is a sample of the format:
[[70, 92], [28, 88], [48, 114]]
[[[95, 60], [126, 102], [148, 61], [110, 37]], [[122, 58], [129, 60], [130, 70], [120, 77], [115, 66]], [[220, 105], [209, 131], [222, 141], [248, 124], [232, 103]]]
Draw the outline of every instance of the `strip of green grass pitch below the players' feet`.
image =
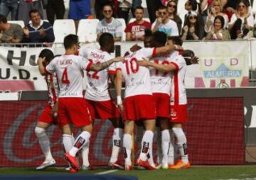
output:
[[[108, 169], [97, 169], [95, 171], [79, 171], [78, 174], [98, 174], [100, 172], [109, 171]], [[10, 174], [69, 174], [63, 168], [51, 167], [43, 171], [36, 171], [32, 167], [22, 168], [0, 168], [1, 175]], [[256, 165], [245, 166], [193, 166], [191, 169], [179, 170], [132, 170], [112, 171], [110, 174], [137, 176], [139, 180], [226, 180], [226, 179], [256, 179]]]

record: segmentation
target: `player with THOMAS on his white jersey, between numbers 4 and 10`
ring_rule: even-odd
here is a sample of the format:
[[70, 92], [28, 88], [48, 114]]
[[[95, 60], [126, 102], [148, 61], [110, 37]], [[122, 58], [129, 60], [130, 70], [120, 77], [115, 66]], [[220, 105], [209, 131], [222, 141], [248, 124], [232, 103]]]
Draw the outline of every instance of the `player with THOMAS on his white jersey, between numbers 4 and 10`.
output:
[[[100, 35], [99, 43], [100, 49], [85, 48], [80, 50], [79, 55], [95, 64], [112, 59], [110, 53], [114, 52], [113, 35], [110, 33], [102, 33], [102, 35]], [[117, 69], [114, 64], [111, 64], [110, 67], [100, 72], [87, 71], [87, 89], [85, 92], [85, 99], [89, 103], [92, 120], [95, 118], [103, 120], [109, 119], [112, 122], [112, 125], [114, 126], [114, 132], [112, 135], [113, 147], [108, 165], [112, 168], [122, 169], [122, 167], [117, 163], [117, 159], [119, 149], [121, 147], [124, 124], [120, 118], [119, 109], [115, 106], [115, 103], [110, 96], [108, 84], [109, 78], [114, 82], [116, 71]]]

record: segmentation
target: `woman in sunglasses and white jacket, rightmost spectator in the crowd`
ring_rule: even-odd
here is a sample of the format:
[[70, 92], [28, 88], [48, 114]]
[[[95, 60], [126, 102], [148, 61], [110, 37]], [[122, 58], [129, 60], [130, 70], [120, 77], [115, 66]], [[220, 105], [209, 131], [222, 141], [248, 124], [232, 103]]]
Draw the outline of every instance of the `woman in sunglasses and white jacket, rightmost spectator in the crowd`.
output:
[[231, 17], [230, 23], [228, 25], [231, 39], [235, 40], [238, 38], [251, 38], [254, 22], [253, 17], [249, 12], [249, 7], [249, 1], [238, 1], [236, 12], [233, 13], [233, 16]]

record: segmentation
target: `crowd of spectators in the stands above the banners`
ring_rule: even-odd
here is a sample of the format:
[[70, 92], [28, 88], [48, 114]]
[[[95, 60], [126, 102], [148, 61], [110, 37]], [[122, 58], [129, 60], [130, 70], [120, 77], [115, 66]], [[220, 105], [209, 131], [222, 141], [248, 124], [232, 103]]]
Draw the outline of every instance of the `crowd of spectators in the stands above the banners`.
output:
[[[150, 22], [144, 19], [142, 0], [70, 0], [68, 18], [75, 21], [77, 29], [81, 19], [98, 18], [97, 39], [108, 32], [115, 41], [122, 40], [124, 32], [127, 41], [144, 40], [146, 28], [180, 35], [182, 40], [250, 39], [256, 34], [250, 0], [146, 0], [146, 4]], [[12, 21], [22, 20], [26, 26], [22, 29], [8, 23], [9, 13]], [[1, 43], [53, 43], [55, 18], [64, 16], [63, 0], [0, 0]], [[134, 21], [128, 23], [130, 16]], [[48, 21], [43, 21], [46, 18]], [[124, 18], [125, 30], [117, 18]]]

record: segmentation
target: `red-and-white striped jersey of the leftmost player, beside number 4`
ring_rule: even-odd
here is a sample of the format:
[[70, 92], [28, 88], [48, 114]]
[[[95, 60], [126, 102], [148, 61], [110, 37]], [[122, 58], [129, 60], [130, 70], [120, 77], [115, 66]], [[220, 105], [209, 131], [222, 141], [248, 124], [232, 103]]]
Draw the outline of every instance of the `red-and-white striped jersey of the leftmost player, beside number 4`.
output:
[[58, 95], [60, 92], [60, 87], [58, 85], [58, 77], [56, 73], [46, 74], [46, 84], [47, 84], [47, 92], [48, 92], [48, 104], [53, 107], [58, 99]]

